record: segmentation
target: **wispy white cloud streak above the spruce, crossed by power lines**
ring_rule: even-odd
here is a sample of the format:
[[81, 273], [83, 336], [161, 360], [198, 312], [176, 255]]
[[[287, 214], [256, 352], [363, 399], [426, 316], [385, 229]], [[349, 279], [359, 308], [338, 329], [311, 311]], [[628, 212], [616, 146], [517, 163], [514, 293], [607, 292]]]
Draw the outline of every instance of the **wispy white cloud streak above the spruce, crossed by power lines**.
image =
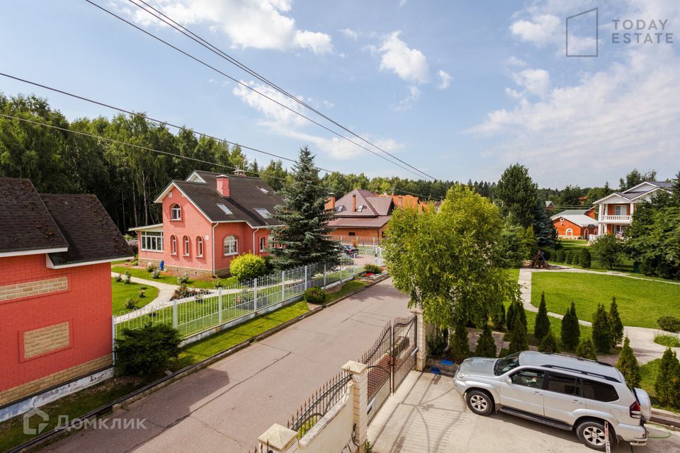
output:
[[[277, 105], [267, 98], [260, 96], [258, 93], [239, 85], [233, 90], [234, 96], [241, 99], [244, 103], [259, 111], [264, 115], [264, 119], [259, 121], [259, 125], [266, 127], [271, 132], [278, 134], [282, 137], [288, 137], [291, 139], [299, 140], [300, 142], [313, 144], [318, 147], [321, 151], [331, 156], [333, 159], [346, 160], [352, 159], [361, 154], [366, 154], [368, 151], [361, 149], [355, 144], [351, 144], [341, 137], [320, 137], [318, 135], [310, 134], [305, 132], [305, 127], [309, 126], [311, 123], [305, 120], [305, 118], [296, 115], [295, 112], [303, 113], [303, 108], [300, 104], [296, 103], [290, 98], [287, 98], [273, 88], [265, 86], [263, 84], [255, 83], [254, 81], [244, 82], [248, 86], [256, 89], [257, 91], [266, 94], [269, 98], [277, 101], [278, 103], [285, 105], [287, 108]], [[302, 96], [298, 96], [299, 99], [303, 99]], [[327, 103], [323, 101], [324, 105], [332, 106], [332, 103]], [[378, 145], [378, 147], [385, 149], [386, 151], [398, 151], [404, 145], [396, 142], [393, 139], [385, 139], [383, 137], [374, 137], [371, 134], [360, 134], [365, 137], [370, 142]], [[356, 140], [353, 140], [356, 142]]]

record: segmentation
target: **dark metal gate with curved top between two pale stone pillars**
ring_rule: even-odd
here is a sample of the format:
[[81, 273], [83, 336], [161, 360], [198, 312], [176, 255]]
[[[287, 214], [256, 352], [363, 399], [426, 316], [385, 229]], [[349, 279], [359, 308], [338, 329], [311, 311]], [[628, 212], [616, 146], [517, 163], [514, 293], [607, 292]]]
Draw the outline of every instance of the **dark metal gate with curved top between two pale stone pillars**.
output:
[[388, 323], [363, 357], [368, 365], [368, 423], [416, 363], [416, 316]]

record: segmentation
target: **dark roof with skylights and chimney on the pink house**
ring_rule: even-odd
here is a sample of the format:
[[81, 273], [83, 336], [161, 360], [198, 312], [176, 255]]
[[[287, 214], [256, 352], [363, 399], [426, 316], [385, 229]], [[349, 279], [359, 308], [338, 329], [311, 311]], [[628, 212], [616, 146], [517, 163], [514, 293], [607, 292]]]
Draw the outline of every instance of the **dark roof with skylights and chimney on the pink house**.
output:
[[[195, 171], [194, 173], [205, 180], [205, 183], [179, 180], [173, 183], [208, 216], [211, 222], [241, 220], [251, 226], [269, 226], [280, 223], [276, 219], [265, 219], [256, 212], [256, 209], [261, 208], [273, 215], [276, 214], [276, 206], [283, 204], [283, 198], [276, 195], [273, 188], [260, 178], [227, 175], [229, 197], [222, 197], [222, 194], [217, 192], [217, 176], [222, 173], [210, 171]], [[261, 188], [267, 193], [264, 193]], [[233, 214], [226, 214], [217, 204], [225, 205]]]

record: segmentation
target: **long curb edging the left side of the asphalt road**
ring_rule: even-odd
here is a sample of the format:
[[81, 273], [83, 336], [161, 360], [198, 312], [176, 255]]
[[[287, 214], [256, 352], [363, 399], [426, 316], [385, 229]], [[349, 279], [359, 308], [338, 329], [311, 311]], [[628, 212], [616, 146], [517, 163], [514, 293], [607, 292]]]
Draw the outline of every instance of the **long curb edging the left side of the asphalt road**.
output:
[[[272, 327], [262, 333], [259, 333], [258, 335], [249, 338], [248, 340], [243, 340], [241, 343], [237, 343], [236, 345], [233, 345], [229, 349], [225, 349], [221, 352], [217, 352], [215, 355], [211, 355], [210, 357], [206, 357], [205, 359], [201, 360], [200, 362], [196, 362], [192, 365], [188, 365], [188, 367], [184, 367], [182, 369], [177, 370], [176, 372], [172, 374], [168, 374], [160, 379], [157, 379], [154, 382], [151, 382], [140, 389], [137, 389], [135, 391], [132, 391], [132, 393], [121, 396], [118, 399], [115, 399], [114, 401], [111, 401], [111, 403], [106, 403], [105, 405], [98, 407], [94, 409], [93, 411], [90, 411], [81, 417], [78, 417], [76, 420], [88, 420], [89, 418], [99, 418], [102, 415], [106, 415], [108, 413], [113, 413], [114, 411], [117, 411], [123, 406], [126, 406], [130, 403], [134, 403], [135, 401], [139, 401], [142, 398], [145, 398], [146, 396], [149, 396], [149, 394], [154, 393], [154, 391], [160, 390], [165, 386], [168, 386], [169, 384], [172, 384], [176, 381], [179, 381], [179, 379], [182, 379], [183, 377], [188, 376], [189, 374], [192, 374], [194, 372], [197, 372], [200, 369], [203, 369], [205, 367], [208, 367], [209, 365], [212, 365], [213, 363], [224, 359], [225, 357], [228, 357], [229, 355], [234, 354], [235, 352], [239, 352], [240, 350], [243, 350], [250, 346], [252, 343], [255, 343], [256, 341], [263, 340], [269, 336], [272, 336], [274, 333], [277, 333], [279, 331], [282, 331], [284, 328], [287, 328], [288, 326], [292, 326], [293, 324], [297, 323], [298, 321], [302, 321], [302, 319], [308, 318], [309, 316], [312, 316], [313, 314], [317, 314], [319, 311], [322, 311], [323, 309], [333, 306], [344, 299], [347, 299], [348, 297], [353, 296], [354, 294], [361, 292], [365, 289], [368, 289], [372, 287], [373, 285], [376, 285], [377, 283], [382, 282], [383, 280], [387, 280], [387, 278], [390, 277], [390, 275], [385, 272], [383, 273], [380, 277], [376, 278], [372, 282], [368, 282], [364, 287], [361, 287], [359, 289], [356, 289], [352, 292], [349, 292], [345, 294], [342, 297], [338, 297], [335, 299], [333, 302], [329, 302], [328, 304], [324, 304], [321, 306], [317, 306], [315, 309], [311, 309], [310, 311], [307, 311], [306, 313], [301, 314], [300, 316], [295, 316], [293, 319], [289, 319], [288, 321], [285, 321], [284, 323], [280, 323], [278, 326]], [[75, 420], [74, 420], [75, 421]], [[33, 437], [33, 439], [29, 440], [28, 442], [24, 442], [21, 445], [17, 445], [16, 447], [13, 447], [12, 449], [7, 450], [6, 453], [20, 453], [20, 452], [26, 452], [29, 451], [30, 449], [33, 449], [35, 447], [38, 447], [39, 445], [45, 444], [47, 442], [53, 442], [55, 440], [60, 439], [61, 437], [66, 437], [70, 432], [77, 431], [76, 429], [73, 428], [73, 423], [72, 422], [68, 426], [64, 426], [63, 428], [54, 428], [51, 431], [44, 432], [41, 435], [38, 435], [36, 437]]]

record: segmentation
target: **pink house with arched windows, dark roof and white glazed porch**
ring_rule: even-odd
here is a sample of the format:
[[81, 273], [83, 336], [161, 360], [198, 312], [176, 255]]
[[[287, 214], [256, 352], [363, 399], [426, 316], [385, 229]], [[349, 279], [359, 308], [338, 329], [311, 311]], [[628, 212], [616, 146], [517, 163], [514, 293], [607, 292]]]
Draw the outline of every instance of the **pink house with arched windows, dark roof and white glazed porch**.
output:
[[172, 181], [155, 202], [163, 223], [137, 226], [140, 265], [212, 277], [229, 274], [242, 253], [266, 256], [271, 216], [283, 199], [260, 178], [194, 171]]

